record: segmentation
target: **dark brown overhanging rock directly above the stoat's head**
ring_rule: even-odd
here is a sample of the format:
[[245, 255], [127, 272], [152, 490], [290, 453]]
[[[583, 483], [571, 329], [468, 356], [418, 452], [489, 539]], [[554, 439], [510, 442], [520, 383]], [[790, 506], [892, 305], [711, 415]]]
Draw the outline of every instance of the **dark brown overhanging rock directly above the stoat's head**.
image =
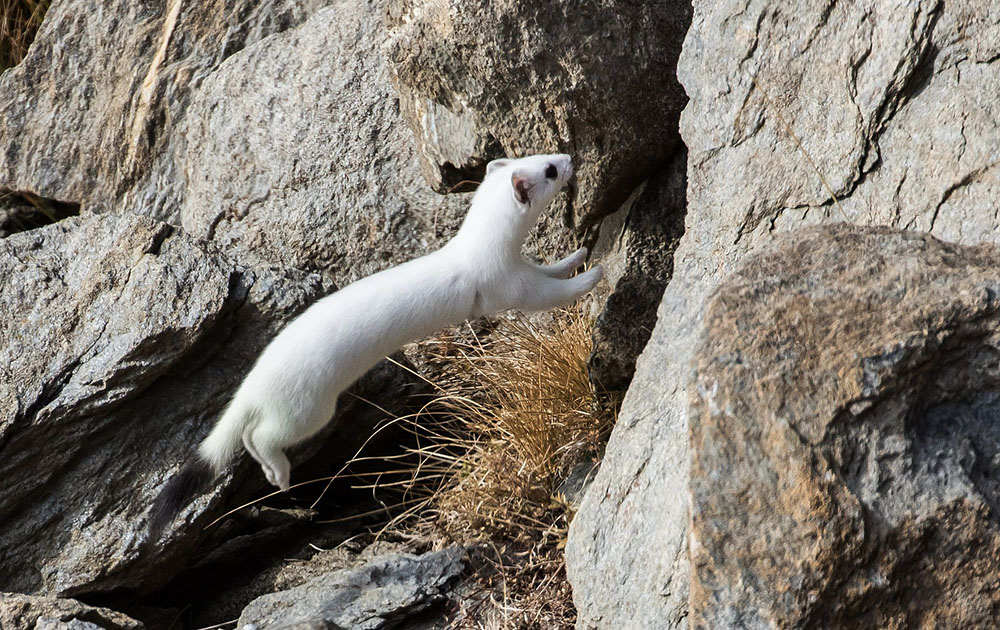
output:
[[390, 16], [403, 111], [439, 190], [504, 154], [570, 153], [567, 218], [587, 227], [674, 150], [690, 2], [393, 0]]

